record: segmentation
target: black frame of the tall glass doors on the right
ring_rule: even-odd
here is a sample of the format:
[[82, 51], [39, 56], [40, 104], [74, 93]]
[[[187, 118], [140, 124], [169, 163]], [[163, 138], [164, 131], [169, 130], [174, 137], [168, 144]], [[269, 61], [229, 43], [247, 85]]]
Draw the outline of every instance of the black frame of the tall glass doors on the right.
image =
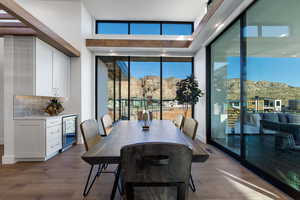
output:
[[[212, 0], [209, 1], [212, 3]], [[234, 153], [233, 151], [230, 151], [226, 147], [218, 144], [212, 139], [211, 134], [211, 85], [212, 85], [212, 77], [211, 77], [211, 66], [212, 66], [212, 58], [211, 58], [211, 46], [212, 44], [218, 40], [223, 33], [225, 33], [227, 30], [229, 30], [238, 20], [240, 20], [240, 103], [242, 105], [241, 108], [241, 124], [244, 124], [245, 119], [245, 111], [246, 111], [246, 89], [244, 81], [246, 80], [246, 56], [247, 56], [247, 37], [245, 35], [245, 27], [247, 26], [247, 18], [246, 14], [247, 11], [259, 1], [254, 1], [250, 5], [248, 5], [247, 8], [243, 12], [241, 12], [236, 18], [234, 18], [205, 48], [206, 50], [206, 137], [207, 137], [207, 143], [211, 144], [218, 149], [222, 150], [232, 158], [236, 159], [241, 165], [245, 166], [267, 182], [271, 183], [275, 187], [279, 188], [286, 194], [288, 194], [290, 197], [293, 197], [295, 199], [300, 199], [300, 192], [295, 190], [294, 188], [290, 187], [289, 185], [281, 182], [274, 176], [267, 174], [262, 169], [258, 168], [254, 164], [250, 163], [246, 160], [246, 148], [245, 148], [245, 133], [244, 133], [244, 126], [241, 126], [241, 139], [240, 139], [240, 150], [241, 154], [238, 155]], [[260, 34], [260, 33], [259, 33]]]

